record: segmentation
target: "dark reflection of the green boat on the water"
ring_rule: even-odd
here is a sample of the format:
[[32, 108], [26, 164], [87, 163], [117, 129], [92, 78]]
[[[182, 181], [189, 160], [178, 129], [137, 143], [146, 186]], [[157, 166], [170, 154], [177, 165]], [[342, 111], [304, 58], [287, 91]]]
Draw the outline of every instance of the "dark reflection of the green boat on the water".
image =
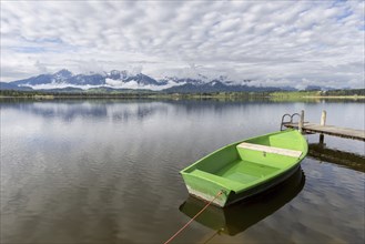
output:
[[[290, 179], [270, 191], [232, 206], [209, 206], [196, 222], [217, 231], [219, 234], [236, 235], [292, 201], [303, 189], [305, 175], [300, 167]], [[205, 203], [192, 196], [180, 206], [180, 211], [193, 217]]]

